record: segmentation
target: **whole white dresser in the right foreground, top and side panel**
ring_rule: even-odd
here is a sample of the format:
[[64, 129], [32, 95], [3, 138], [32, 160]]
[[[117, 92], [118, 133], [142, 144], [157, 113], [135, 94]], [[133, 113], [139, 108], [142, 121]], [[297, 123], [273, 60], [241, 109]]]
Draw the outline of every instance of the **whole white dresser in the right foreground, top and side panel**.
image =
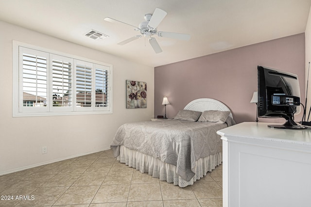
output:
[[219, 130], [224, 207], [311, 207], [311, 128], [243, 122]]

